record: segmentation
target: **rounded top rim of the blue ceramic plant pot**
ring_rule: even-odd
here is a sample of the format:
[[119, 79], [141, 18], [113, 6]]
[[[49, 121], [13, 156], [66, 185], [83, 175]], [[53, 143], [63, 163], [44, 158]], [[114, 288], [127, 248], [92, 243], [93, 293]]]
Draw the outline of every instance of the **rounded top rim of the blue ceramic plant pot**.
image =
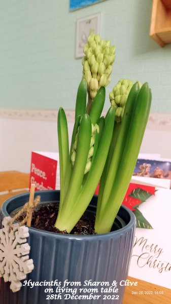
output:
[[[43, 191], [35, 191], [35, 196], [37, 195], [44, 195], [44, 194], [47, 194], [49, 193], [49, 195], [51, 194], [55, 194], [55, 193], [59, 193], [60, 191], [59, 190], [43, 190]], [[98, 197], [98, 195], [94, 195], [93, 197]], [[20, 198], [20, 199], [23, 199], [23, 202], [26, 203], [26, 201], [28, 201], [28, 198], [29, 198], [29, 192], [25, 192], [25, 193], [22, 193], [22, 194], [18, 194], [18, 195], [15, 195], [9, 199], [7, 199], [2, 207], [1, 207], [1, 210], [2, 210], [2, 213], [4, 216], [10, 216], [10, 214], [7, 212], [7, 207], [8, 205], [13, 202], [14, 200], [16, 200], [17, 198]], [[47, 200], [48, 201], [48, 200]], [[127, 207], [125, 206], [121, 206], [120, 207], [121, 209], [125, 210], [130, 219], [129, 219], [129, 222], [124, 226], [122, 227], [121, 229], [119, 230], [116, 230], [116, 231], [112, 231], [112, 232], [108, 232], [108, 233], [104, 233], [104, 234], [96, 234], [96, 235], [74, 235], [74, 234], [61, 234], [61, 233], [55, 233], [55, 232], [49, 232], [49, 231], [44, 231], [44, 230], [39, 230], [39, 229], [36, 229], [36, 228], [33, 228], [33, 227], [28, 227], [29, 229], [29, 232], [35, 232], [35, 233], [41, 233], [42, 236], [48, 236], [48, 237], [58, 237], [58, 238], [65, 238], [65, 239], [78, 239], [78, 240], [81, 240], [81, 239], [89, 239], [89, 238], [103, 238], [103, 237], [109, 237], [111, 238], [113, 235], [115, 235], [117, 237], [117, 235], [120, 235], [120, 233], [124, 233], [125, 230], [129, 230], [130, 227], [132, 227], [132, 225], [135, 224], [135, 216], [133, 214], [133, 212], [131, 210], [129, 210]], [[15, 209], [15, 208], [14, 208]]]

